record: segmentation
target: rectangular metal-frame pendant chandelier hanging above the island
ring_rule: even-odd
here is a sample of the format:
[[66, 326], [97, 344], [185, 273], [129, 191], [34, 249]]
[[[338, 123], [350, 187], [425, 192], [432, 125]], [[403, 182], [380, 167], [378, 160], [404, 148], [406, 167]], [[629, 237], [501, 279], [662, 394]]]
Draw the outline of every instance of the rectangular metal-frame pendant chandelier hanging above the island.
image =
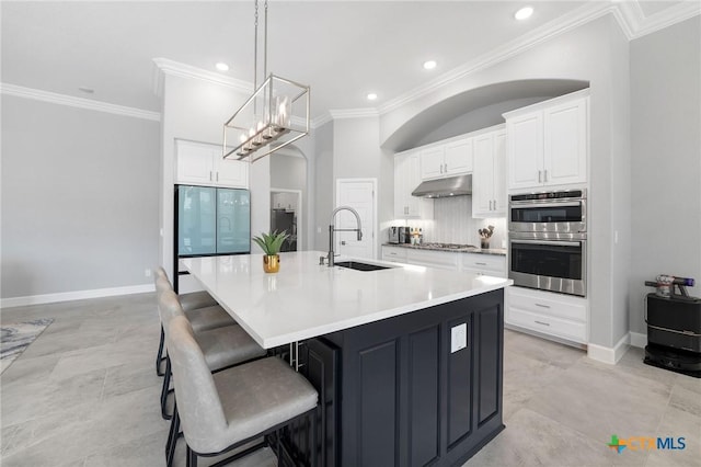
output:
[[223, 124], [225, 159], [251, 162], [309, 134], [308, 86], [267, 75], [267, 0], [264, 3], [263, 77], [257, 86], [258, 1], [255, 0], [253, 43], [253, 95]]

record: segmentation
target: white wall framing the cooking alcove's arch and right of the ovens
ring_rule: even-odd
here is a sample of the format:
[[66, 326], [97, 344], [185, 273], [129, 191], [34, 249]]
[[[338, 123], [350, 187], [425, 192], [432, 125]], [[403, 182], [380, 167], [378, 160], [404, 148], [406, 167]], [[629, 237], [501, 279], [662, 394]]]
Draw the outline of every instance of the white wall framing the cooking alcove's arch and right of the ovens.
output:
[[[542, 78], [589, 82], [589, 340], [606, 348], [613, 346], [621, 339], [622, 335], [619, 334], [622, 331], [618, 324], [614, 326], [614, 321], [621, 321], [620, 317], [628, 314], [625, 309], [618, 308], [621, 301], [618, 294], [621, 292], [613, 291], [614, 283], [623, 280], [616, 280], [612, 272], [625, 263], [625, 242], [630, 242], [630, 239], [621, 239], [619, 235], [620, 247], [612, 249], [614, 226], [610, 214], [630, 207], [630, 196], [625, 195], [625, 189], [612, 191], [611, 186], [616, 183], [613, 178], [625, 180], [625, 160], [630, 157], [624, 153], [624, 145], [613, 141], [611, 135], [613, 130], [624, 132], [628, 126], [627, 112], [620, 107], [627, 104], [628, 98], [614, 95], [621, 90], [617, 81], [628, 80], [627, 67], [618, 66], [620, 60], [628, 61], [627, 41], [616, 20], [607, 15], [462, 77], [380, 117], [380, 141], [384, 144], [423, 111], [471, 89]], [[616, 164], [613, 158], [620, 158]], [[625, 230], [621, 227], [622, 232]], [[622, 294], [625, 294], [624, 287]]]

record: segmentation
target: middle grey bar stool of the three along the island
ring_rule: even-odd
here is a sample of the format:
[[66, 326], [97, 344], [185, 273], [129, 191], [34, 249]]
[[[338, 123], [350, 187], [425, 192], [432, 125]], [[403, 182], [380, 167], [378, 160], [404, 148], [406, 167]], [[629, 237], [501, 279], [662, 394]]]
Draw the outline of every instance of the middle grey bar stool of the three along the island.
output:
[[[159, 296], [159, 315], [161, 323], [168, 335], [170, 323], [175, 317], [183, 317], [187, 320], [183, 311], [177, 295], [173, 291], [165, 291]], [[260, 358], [266, 355], [265, 349], [260, 346], [235, 321], [232, 326], [223, 326], [215, 329], [204, 329], [195, 331], [187, 320], [187, 326], [193, 329], [193, 334], [197, 344], [203, 350], [207, 366], [211, 372], [238, 365], [240, 363]], [[170, 357], [165, 357], [165, 372], [163, 386], [161, 388], [161, 415], [164, 420], [170, 420], [166, 413], [168, 395], [171, 392], [171, 363]]]

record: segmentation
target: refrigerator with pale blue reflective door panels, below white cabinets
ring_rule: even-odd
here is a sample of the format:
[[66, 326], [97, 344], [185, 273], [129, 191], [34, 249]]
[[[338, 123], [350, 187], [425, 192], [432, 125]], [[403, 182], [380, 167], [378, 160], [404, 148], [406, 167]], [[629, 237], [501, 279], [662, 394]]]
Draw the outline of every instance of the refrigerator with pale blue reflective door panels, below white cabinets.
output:
[[248, 190], [176, 185], [177, 258], [251, 252], [251, 194]]

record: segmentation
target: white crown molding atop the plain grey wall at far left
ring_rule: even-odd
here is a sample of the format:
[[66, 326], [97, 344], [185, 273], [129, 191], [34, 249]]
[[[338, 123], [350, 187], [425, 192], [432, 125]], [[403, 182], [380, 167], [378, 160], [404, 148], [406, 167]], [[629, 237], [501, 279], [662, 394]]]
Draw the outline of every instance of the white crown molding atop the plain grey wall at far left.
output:
[[33, 99], [35, 101], [50, 102], [53, 104], [67, 105], [70, 107], [87, 109], [90, 111], [105, 112], [110, 114], [124, 115], [135, 118], [161, 121], [158, 112], [145, 111], [125, 105], [110, 104], [107, 102], [94, 101], [92, 99], [76, 98], [56, 92], [42, 91], [38, 89], [24, 88], [16, 84], [0, 83], [0, 93], [13, 95], [15, 98]]

